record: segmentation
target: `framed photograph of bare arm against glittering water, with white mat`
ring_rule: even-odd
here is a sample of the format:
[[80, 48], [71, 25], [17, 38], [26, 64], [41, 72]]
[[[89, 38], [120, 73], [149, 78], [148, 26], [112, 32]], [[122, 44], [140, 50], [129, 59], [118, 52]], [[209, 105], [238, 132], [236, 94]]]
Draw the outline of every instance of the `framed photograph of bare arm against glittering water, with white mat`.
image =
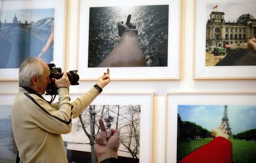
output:
[[80, 77], [109, 67], [114, 80], [178, 80], [180, 25], [179, 0], [80, 1]]

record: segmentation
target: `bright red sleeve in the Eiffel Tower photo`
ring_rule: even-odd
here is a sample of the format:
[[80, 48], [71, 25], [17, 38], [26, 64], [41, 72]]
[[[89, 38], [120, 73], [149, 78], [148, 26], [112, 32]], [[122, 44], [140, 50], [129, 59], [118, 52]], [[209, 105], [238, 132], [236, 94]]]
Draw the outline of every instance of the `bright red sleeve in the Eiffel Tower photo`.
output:
[[200, 162], [232, 162], [231, 141], [221, 136], [213, 139], [210, 143], [196, 149], [181, 160], [181, 163]]

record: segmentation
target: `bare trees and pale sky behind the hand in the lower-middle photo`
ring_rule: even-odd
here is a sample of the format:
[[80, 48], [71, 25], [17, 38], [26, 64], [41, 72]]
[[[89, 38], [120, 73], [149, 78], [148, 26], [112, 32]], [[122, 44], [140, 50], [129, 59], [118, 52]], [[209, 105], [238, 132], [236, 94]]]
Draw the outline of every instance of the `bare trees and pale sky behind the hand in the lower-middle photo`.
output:
[[[100, 132], [98, 125], [100, 118], [105, 121], [107, 130], [116, 128], [120, 132], [119, 159], [139, 162], [140, 105], [90, 105], [73, 120], [70, 137], [64, 138], [69, 161], [97, 162], [93, 144], [95, 135]], [[79, 154], [75, 151], [83, 151], [83, 153]]]

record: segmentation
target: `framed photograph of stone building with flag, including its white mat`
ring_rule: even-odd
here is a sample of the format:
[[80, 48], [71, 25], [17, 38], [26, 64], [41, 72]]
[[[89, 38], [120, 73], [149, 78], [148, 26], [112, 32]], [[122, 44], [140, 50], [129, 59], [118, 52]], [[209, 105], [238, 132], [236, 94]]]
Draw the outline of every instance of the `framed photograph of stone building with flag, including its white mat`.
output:
[[196, 0], [194, 79], [256, 78], [254, 0]]

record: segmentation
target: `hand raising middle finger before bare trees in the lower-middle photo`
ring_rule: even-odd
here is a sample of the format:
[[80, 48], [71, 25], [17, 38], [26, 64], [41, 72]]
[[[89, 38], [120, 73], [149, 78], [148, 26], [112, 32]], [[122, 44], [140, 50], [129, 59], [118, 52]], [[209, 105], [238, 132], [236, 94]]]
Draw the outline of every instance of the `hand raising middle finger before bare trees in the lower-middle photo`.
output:
[[95, 154], [98, 162], [109, 158], [117, 159], [117, 151], [119, 148], [119, 131], [111, 128], [108, 132], [104, 125], [103, 119], [99, 119], [101, 132], [95, 138]]

